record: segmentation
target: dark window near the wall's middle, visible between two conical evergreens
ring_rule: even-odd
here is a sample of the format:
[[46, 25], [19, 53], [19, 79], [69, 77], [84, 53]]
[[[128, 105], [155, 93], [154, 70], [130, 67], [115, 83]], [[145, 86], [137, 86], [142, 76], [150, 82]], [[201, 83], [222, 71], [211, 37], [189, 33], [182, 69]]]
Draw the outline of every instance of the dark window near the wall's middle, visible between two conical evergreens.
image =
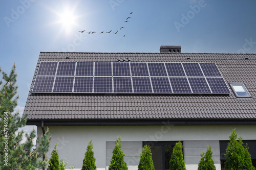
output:
[[150, 145], [155, 170], [169, 169], [170, 156], [172, 156], [173, 148], [177, 142], [178, 141], [143, 142], [143, 145]]

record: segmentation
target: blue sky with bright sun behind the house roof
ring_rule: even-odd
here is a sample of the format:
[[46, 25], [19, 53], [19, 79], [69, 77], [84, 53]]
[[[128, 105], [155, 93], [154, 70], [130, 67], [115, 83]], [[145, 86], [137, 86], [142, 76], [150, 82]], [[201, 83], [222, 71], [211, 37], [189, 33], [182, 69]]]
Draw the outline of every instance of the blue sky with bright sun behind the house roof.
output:
[[158, 53], [160, 45], [181, 45], [183, 53], [256, 53], [255, 7], [255, 0], [2, 0], [0, 66], [9, 72], [15, 62], [23, 110], [39, 52]]

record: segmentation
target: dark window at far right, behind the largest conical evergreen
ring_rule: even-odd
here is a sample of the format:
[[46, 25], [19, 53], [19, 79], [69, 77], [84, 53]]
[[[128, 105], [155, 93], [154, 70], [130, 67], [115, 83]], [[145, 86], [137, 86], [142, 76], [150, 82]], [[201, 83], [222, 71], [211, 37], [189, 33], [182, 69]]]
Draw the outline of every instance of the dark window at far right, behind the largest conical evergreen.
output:
[[[228, 145], [229, 140], [220, 140], [220, 156], [221, 156], [221, 169], [224, 170], [225, 167], [225, 154], [226, 154], [226, 148]], [[244, 144], [248, 144], [248, 151], [251, 154], [251, 161], [252, 165], [256, 167], [256, 140], [243, 140]]]

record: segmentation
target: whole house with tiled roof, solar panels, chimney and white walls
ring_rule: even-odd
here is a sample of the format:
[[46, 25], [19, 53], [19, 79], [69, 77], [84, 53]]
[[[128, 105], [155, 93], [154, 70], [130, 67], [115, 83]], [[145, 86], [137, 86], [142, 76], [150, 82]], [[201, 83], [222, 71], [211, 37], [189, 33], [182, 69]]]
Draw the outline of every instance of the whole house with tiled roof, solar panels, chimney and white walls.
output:
[[256, 167], [255, 65], [256, 54], [181, 53], [181, 46], [161, 46], [160, 53], [41, 52], [24, 114], [39, 136], [49, 127], [51, 150], [58, 143], [60, 159], [76, 169], [91, 139], [97, 169], [107, 169], [117, 136], [132, 170], [145, 144], [155, 169], [167, 169], [177, 141], [187, 169], [197, 169], [207, 144], [223, 169], [234, 128]]

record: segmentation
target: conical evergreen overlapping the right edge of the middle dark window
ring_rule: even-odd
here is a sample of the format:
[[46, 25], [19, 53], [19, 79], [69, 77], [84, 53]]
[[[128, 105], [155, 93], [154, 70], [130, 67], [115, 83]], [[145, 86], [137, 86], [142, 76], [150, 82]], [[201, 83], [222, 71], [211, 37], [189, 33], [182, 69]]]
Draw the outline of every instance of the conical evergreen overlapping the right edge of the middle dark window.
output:
[[182, 143], [181, 141], [175, 144], [173, 149], [173, 154], [170, 156], [170, 167], [169, 170], [186, 170], [185, 161], [183, 159], [182, 153]]

